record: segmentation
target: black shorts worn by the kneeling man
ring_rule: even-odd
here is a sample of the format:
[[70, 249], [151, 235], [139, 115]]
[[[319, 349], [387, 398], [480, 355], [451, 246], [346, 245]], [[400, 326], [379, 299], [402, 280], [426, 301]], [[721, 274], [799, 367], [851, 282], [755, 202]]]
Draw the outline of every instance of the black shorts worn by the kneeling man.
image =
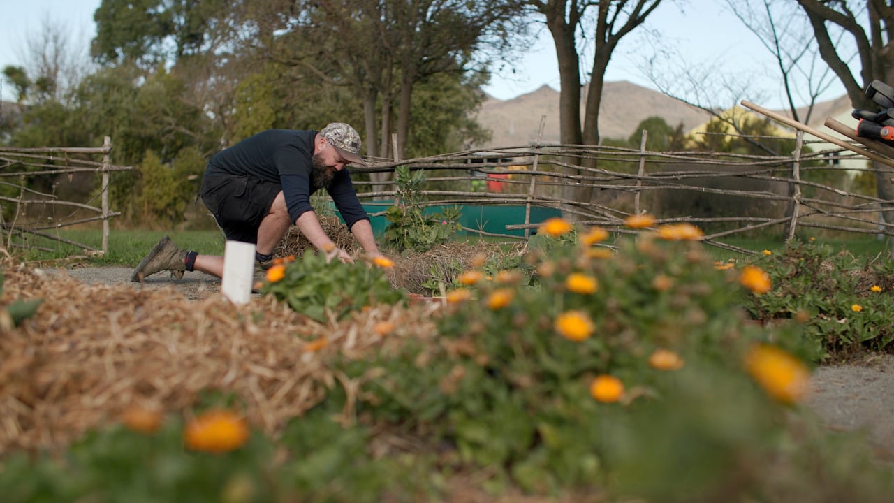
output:
[[199, 192], [228, 240], [257, 244], [257, 229], [283, 188], [249, 175], [205, 175]]

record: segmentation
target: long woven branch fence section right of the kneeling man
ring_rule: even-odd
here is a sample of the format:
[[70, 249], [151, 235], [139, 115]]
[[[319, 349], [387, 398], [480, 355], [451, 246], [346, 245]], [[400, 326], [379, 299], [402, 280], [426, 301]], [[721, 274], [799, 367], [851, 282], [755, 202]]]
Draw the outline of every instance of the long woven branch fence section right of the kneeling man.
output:
[[[805, 142], [801, 132], [797, 132], [797, 147], [789, 157], [652, 152], [645, 150], [645, 137], [644, 131], [641, 149], [521, 146], [430, 158], [378, 160], [366, 167], [352, 167], [351, 171], [386, 173], [398, 166], [425, 170], [426, 190], [422, 193], [431, 206], [522, 205], [525, 220], [506, 226], [506, 230], [526, 229], [523, 239], [537, 226], [529, 220], [530, 208], [534, 206], [558, 209], [579, 224], [603, 226], [617, 233], [630, 232], [623, 225], [626, 217], [648, 212], [658, 218], [658, 224], [685, 221], [703, 227], [707, 230], [705, 243], [742, 253], [752, 252], [724, 243], [724, 238], [763, 233], [788, 240], [805, 228], [839, 236], [875, 234], [880, 239], [894, 234], [894, 225], [881, 217], [881, 213], [894, 210], [890, 205], [894, 201], [881, 200], [874, 192], [867, 195], [848, 188], [860, 172], [879, 173], [887, 180], [894, 168], [878, 163], [873, 166], [851, 150], [804, 149], [812, 143]], [[841, 186], [810, 181], [816, 176], [808, 174], [824, 171], [838, 172], [834, 178], [842, 182]], [[510, 178], [502, 178], [506, 175]], [[474, 187], [481, 180], [495, 181], [495, 176], [501, 177], [496, 179], [503, 185], [501, 192], [440, 189]], [[355, 185], [365, 204], [391, 200], [396, 195], [393, 185]], [[738, 202], [728, 207], [718, 205], [717, 201], [724, 198]], [[681, 204], [675, 205], [675, 201]], [[687, 212], [689, 209], [697, 211]], [[732, 213], [729, 209], [740, 212]], [[519, 238], [474, 228], [464, 230]]]

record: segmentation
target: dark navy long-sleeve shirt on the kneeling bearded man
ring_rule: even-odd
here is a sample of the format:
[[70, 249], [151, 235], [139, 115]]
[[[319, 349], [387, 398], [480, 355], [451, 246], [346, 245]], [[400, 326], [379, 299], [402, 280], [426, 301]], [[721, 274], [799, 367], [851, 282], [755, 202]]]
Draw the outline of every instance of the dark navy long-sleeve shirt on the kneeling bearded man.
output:
[[[283, 188], [286, 207], [292, 222], [307, 211], [313, 211], [310, 194], [324, 187], [315, 180], [310, 158], [314, 154], [316, 131], [270, 129], [217, 152], [208, 161], [207, 175], [251, 175]], [[335, 201], [350, 229], [358, 220], [369, 220], [357, 199], [348, 169], [333, 176], [326, 191]]]

